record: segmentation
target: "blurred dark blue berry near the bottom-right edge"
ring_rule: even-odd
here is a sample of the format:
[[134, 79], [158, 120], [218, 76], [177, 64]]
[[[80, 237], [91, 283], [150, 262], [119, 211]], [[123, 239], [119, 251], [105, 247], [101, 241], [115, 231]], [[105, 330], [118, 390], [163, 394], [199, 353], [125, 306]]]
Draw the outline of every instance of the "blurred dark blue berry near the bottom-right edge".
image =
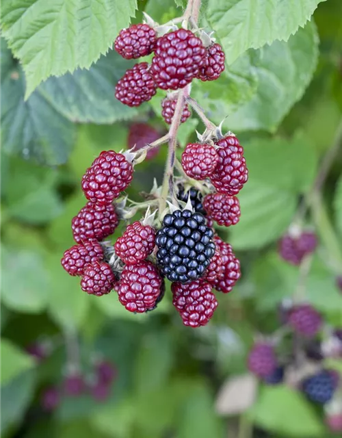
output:
[[304, 379], [302, 389], [313, 402], [325, 404], [334, 395], [336, 381], [328, 370], [321, 370], [317, 374]]

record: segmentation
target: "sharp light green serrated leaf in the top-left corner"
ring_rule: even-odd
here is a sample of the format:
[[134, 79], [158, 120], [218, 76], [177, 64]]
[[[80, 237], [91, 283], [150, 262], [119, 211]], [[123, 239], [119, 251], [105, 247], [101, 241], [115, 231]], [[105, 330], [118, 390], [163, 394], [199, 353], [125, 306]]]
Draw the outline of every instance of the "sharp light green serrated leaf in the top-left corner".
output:
[[2, 8], [3, 36], [21, 61], [27, 98], [41, 81], [89, 68], [130, 23], [137, 0], [14, 0]]

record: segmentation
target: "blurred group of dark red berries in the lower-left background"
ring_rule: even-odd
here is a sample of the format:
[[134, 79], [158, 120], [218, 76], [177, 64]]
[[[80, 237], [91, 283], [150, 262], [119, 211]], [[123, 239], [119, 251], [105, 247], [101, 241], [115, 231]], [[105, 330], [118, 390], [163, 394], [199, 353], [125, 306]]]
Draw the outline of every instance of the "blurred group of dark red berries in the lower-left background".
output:
[[89, 376], [80, 372], [64, 377], [61, 385], [50, 385], [42, 392], [44, 411], [54, 411], [64, 397], [79, 397], [89, 394], [99, 402], [107, 400], [111, 384], [116, 378], [116, 368], [109, 361], [100, 361]]

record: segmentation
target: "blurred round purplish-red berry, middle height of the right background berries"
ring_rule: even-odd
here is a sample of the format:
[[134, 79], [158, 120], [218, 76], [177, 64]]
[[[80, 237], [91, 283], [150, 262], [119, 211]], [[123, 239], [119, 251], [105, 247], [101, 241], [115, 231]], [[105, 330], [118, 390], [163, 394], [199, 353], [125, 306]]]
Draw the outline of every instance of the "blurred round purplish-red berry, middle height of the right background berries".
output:
[[289, 312], [289, 324], [297, 333], [314, 337], [321, 329], [321, 315], [311, 305], [297, 305]]

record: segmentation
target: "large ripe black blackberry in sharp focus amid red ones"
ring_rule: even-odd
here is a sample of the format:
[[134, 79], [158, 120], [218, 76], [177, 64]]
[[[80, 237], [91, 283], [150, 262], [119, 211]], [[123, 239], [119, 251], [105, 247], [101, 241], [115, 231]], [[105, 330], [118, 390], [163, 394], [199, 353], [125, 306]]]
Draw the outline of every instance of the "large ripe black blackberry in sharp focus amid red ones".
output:
[[155, 242], [161, 272], [178, 283], [199, 279], [215, 254], [213, 230], [206, 226], [205, 217], [187, 209], [163, 218]]

